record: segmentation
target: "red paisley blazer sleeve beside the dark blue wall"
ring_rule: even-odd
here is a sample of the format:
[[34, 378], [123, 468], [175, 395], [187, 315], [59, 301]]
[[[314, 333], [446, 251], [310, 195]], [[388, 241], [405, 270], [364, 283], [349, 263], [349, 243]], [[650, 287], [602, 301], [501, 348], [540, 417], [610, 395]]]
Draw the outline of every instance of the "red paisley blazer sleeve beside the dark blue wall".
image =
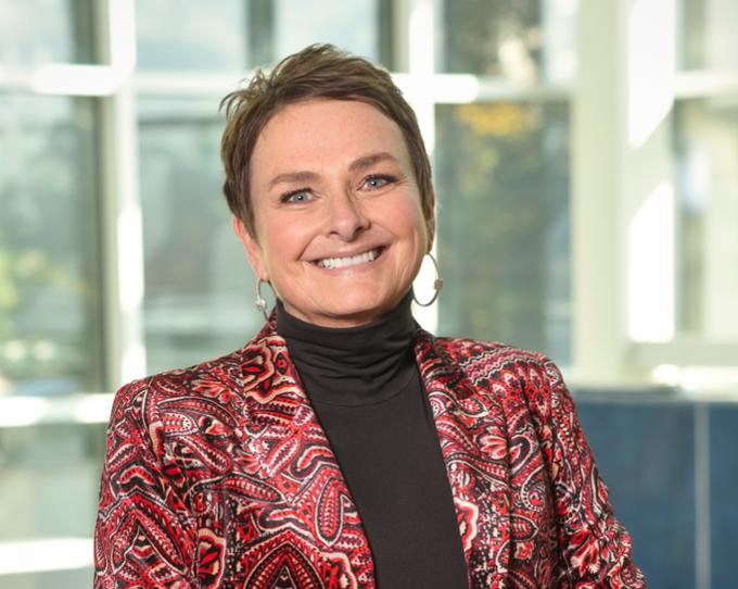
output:
[[559, 547], [565, 567], [560, 587], [640, 589], [645, 578], [631, 557], [631, 536], [615, 518], [580, 427], [560, 371], [542, 356], [547, 402], [537, 406], [544, 458], [551, 476]]

